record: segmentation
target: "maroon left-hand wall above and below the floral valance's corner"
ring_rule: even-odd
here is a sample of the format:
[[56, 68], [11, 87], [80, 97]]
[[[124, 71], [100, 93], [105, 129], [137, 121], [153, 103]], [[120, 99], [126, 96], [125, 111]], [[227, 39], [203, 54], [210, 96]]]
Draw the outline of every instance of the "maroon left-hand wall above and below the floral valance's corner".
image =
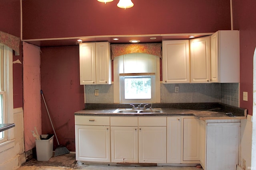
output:
[[[20, 0], [0, 0], [0, 31], [20, 37]], [[22, 46], [20, 55], [13, 61], [22, 62]], [[23, 107], [22, 64], [13, 64], [13, 102], [14, 108]]]

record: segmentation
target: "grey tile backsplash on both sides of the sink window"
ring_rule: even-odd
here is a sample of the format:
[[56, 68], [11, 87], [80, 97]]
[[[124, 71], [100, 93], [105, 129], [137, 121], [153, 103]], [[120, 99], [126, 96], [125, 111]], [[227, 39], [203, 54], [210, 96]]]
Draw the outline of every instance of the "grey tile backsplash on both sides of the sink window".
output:
[[[175, 93], [175, 86], [179, 92]], [[161, 103], [208, 103], [221, 102], [238, 107], [239, 83], [161, 84]], [[94, 96], [94, 90], [99, 96]], [[86, 85], [86, 103], [114, 103], [114, 85]]]

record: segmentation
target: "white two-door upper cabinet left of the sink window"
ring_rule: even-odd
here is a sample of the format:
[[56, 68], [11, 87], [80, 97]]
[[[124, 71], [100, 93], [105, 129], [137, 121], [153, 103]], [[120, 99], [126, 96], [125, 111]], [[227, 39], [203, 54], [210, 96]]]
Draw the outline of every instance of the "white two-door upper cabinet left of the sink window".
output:
[[111, 84], [110, 43], [80, 43], [80, 84]]

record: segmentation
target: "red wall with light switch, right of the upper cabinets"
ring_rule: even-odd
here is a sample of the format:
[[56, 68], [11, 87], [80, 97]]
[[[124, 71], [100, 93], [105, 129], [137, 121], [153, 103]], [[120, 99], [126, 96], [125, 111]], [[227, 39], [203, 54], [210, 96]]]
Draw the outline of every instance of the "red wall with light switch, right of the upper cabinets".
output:
[[[253, 55], [256, 47], [256, 1], [233, 0], [234, 29], [240, 30], [240, 107], [252, 115]], [[243, 101], [248, 92], [248, 102]]]

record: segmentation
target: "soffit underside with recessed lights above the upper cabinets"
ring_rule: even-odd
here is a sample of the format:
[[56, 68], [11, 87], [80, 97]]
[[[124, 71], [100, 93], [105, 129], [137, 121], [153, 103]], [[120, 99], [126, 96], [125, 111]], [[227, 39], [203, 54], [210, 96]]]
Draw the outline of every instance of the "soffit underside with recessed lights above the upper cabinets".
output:
[[[48, 39], [23, 39], [27, 43], [37, 45], [39, 47], [58, 47], [58, 46], [75, 46], [78, 45], [77, 40], [82, 39], [82, 42], [100, 42], [108, 41], [114, 43], [130, 43], [129, 40], [137, 39], [140, 43], [160, 43], [165, 39], [190, 39], [190, 35], [204, 37], [213, 33], [184, 33], [184, 34], [150, 34], [150, 35], [103, 35], [103, 36], [86, 36], [86, 37], [65, 37], [65, 38], [48, 38]], [[156, 39], [150, 39], [155, 37]], [[113, 40], [118, 38], [118, 40]]]

